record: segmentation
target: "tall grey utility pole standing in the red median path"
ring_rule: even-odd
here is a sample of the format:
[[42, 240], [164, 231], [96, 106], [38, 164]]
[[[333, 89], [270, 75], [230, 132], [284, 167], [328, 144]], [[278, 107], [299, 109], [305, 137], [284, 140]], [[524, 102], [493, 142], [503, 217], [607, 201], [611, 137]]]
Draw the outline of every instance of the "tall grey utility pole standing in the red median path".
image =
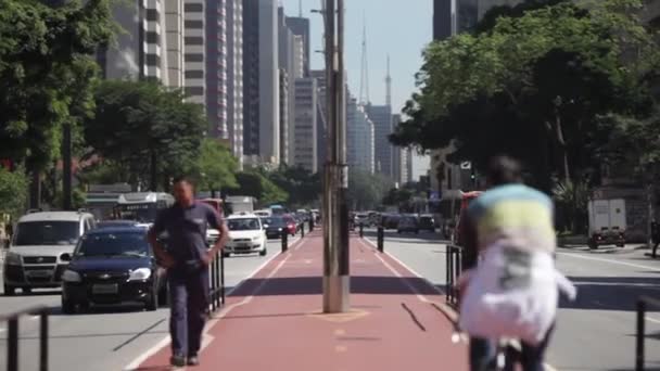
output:
[[323, 312], [350, 310], [344, 0], [325, 0], [328, 158], [323, 174]]

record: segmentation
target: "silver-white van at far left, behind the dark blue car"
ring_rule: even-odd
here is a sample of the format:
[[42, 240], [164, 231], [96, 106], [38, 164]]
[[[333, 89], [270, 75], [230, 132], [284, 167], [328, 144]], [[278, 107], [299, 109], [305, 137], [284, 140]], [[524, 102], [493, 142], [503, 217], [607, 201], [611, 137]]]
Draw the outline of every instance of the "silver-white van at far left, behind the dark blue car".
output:
[[16, 289], [29, 293], [37, 287], [60, 287], [78, 239], [93, 228], [93, 215], [82, 212], [21, 217], [4, 258], [4, 295], [14, 295]]

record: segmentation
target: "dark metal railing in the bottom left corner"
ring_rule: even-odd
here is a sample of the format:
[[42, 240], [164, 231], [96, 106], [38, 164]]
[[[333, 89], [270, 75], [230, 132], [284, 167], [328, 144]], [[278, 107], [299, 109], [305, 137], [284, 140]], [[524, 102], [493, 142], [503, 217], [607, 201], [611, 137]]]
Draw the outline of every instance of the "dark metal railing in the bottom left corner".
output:
[[48, 371], [48, 316], [50, 309], [36, 307], [0, 316], [0, 322], [8, 322], [7, 370], [18, 370], [18, 320], [23, 316], [39, 316], [39, 371]]

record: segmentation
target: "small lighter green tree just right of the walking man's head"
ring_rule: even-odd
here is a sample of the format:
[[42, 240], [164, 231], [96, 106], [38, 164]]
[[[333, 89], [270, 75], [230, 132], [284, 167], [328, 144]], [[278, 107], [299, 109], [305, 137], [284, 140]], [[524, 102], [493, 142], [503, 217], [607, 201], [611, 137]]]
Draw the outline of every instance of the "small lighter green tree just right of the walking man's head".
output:
[[201, 175], [201, 190], [215, 192], [223, 188], [237, 188], [236, 172], [238, 161], [227, 145], [218, 140], [206, 138], [202, 141], [202, 150], [198, 159]]

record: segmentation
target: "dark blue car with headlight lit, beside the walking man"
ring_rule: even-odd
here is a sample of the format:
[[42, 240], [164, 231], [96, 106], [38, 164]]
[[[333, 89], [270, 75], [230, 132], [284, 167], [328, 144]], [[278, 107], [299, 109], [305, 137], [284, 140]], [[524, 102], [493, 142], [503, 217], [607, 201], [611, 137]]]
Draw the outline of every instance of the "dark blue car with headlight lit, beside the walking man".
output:
[[143, 228], [117, 227], [82, 235], [62, 274], [62, 311], [117, 304], [156, 310], [166, 298], [165, 272], [145, 234]]

